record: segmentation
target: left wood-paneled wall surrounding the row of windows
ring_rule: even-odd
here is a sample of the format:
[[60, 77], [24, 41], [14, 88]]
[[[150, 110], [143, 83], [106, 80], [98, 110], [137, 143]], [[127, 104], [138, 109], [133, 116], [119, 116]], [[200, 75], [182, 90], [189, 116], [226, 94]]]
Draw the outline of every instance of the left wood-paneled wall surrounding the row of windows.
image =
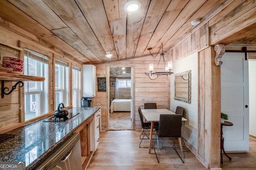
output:
[[[12, 23], [9, 23], [11, 26]], [[81, 63], [76, 61], [76, 59], [70, 57], [69, 55], [63, 53], [60, 49], [56, 49], [56, 47], [49, 46], [49, 44], [42, 42], [40, 39], [37, 39], [35, 36], [30, 33], [19, 29], [23, 35], [15, 33], [14, 31], [10, 31], [2, 26], [0, 26], [0, 52], [1, 56], [10, 56], [15, 58], [24, 57], [24, 49], [31, 49], [38, 53], [48, 56], [48, 71], [49, 71], [49, 112], [55, 110], [55, 73], [54, 73], [54, 57], [62, 59], [71, 65], [71, 63], [76, 66], [81, 66]], [[28, 38], [26, 38], [26, 36]], [[33, 37], [33, 38], [31, 38]], [[21, 50], [21, 51], [20, 51]], [[54, 56], [55, 55], [55, 56]], [[2, 64], [2, 63], [1, 63]], [[70, 80], [71, 84], [71, 68], [70, 68]], [[5, 81], [4, 84], [9, 89], [16, 82]], [[5, 95], [4, 99], [0, 99], [0, 130], [8, 129], [8, 127], [19, 127], [24, 125], [24, 107], [22, 103], [24, 103], [24, 87], [16, 88], [14, 92], [10, 95]], [[72, 94], [72, 85], [70, 85], [70, 96]], [[71, 97], [69, 100], [71, 104]], [[6, 130], [3, 130], [4, 132]]]

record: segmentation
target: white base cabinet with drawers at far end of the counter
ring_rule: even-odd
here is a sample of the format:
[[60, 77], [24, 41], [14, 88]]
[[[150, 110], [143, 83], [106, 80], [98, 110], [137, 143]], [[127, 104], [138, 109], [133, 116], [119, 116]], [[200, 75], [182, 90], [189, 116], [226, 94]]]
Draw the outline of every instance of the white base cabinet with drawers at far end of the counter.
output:
[[90, 149], [95, 151], [100, 143], [101, 109], [94, 113], [94, 119], [90, 122]]

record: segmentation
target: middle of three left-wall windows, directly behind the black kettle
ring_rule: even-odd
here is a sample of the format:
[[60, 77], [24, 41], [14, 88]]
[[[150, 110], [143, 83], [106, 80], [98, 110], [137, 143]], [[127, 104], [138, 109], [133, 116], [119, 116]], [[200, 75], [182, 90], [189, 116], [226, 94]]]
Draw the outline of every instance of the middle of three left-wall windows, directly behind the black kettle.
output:
[[68, 78], [68, 63], [56, 60], [55, 64], [55, 101], [56, 109], [58, 105], [63, 103], [64, 106], [69, 106], [69, 78]]

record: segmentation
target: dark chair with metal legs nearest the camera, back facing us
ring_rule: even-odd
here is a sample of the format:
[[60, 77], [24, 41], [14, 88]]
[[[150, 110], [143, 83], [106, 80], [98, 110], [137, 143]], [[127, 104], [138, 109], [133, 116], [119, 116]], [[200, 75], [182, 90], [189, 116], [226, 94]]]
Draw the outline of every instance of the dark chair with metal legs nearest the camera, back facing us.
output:
[[[159, 126], [158, 128], [156, 128], [155, 137], [154, 137], [154, 143], [155, 143], [155, 139], [157, 139], [157, 154], [155, 150], [155, 145], [154, 145], [154, 151], [155, 151], [158, 163], [160, 161], [159, 140], [166, 139], [166, 138], [178, 138], [182, 157], [177, 152], [175, 147], [173, 147], [173, 149], [177, 152], [178, 156], [184, 163], [183, 149], [182, 149], [182, 143], [181, 143], [181, 126], [182, 126], [182, 115], [180, 114], [171, 114], [171, 115], [161, 114], [160, 115]], [[157, 134], [157, 138], [156, 138], [156, 134]]]

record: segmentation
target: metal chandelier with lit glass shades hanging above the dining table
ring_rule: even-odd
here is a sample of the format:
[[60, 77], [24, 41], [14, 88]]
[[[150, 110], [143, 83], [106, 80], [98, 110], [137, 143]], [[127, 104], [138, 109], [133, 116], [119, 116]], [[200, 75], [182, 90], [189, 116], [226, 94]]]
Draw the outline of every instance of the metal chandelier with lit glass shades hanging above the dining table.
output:
[[[160, 53], [160, 50], [161, 50], [161, 49], [162, 49], [162, 51], [161, 51], [161, 53]], [[152, 50], [152, 48], [148, 48], [148, 50], [149, 50], [150, 55], [152, 55], [152, 53], [151, 53], [151, 51], [150, 51], [150, 50]], [[157, 76], [161, 76], [161, 75], [166, 75], [166, 76], [168, 76], [168, 74], [169, 74], [169, 75], [173, 74], [173, 72], [171, 72], [171, 70], [172, 70], [172, 61], [168, 61], [167, 64], [166, 64], [166, 61], [164, 60], [163, 43], [161, 43], [161, 47], [160, 47], [159, 51], [157, 52], [157, 54], [156, 54], [155, 56], [152, 55], [152, 57], [154, 57], [154, 59], [155, 59], [156, 56], [157, 56], [159, 53], [160, 53], [160, 59], [159, 59], [158, 64], [157, 64], [156, 71], [154, 71], [154, 64], [151, 63], [151, 64], [149, 64], [149, 73], [145, 72], [145, 74], [148, 75], [149, 78], [151, 78], [151, 79], [156, 79]], [[163, 61], [164, 68], [158, 68], [161, 59], [162, 59], [162, 61]], [[160, 70], [160, 69], [162, 69], [162, 70], [164, 70], [164, 71], [162, 71], [162, 72], [161, 72], [161, 71], [158, 71], [158, 70]]]

